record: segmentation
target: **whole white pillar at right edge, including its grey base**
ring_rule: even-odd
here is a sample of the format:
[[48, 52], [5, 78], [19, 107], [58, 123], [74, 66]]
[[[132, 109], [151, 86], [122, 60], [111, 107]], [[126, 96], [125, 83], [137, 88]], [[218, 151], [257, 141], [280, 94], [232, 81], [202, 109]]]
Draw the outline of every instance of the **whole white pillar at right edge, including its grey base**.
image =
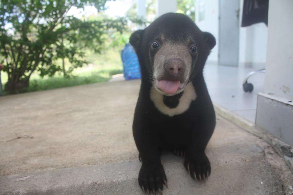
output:
[[269, 1], [265, 93], [256, 124], [293, 146], [293, 1]]

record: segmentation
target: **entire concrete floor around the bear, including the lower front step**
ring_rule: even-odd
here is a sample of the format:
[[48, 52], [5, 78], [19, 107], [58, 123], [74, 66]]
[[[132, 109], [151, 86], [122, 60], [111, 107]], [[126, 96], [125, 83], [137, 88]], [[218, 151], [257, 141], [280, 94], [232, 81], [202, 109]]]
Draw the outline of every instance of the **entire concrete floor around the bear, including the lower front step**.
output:
[[[0, 97], [0, 194], [143, 194], [131, 129], [139, 83]], [[293, 193], [292, 174], [270, 146], [222, 117], [206, 152], [206, 184], [190, 178], [183, 159], [163, 155], [164, 194]]]

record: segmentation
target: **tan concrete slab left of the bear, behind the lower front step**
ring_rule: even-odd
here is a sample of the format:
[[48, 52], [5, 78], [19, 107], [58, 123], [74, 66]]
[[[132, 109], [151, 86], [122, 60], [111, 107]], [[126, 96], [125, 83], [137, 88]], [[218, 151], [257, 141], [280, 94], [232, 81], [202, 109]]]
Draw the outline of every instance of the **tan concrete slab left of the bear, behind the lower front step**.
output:
[[[0, 175], [137, 158], [132, 120], [139, 83], [0, 97]], [[22, 138], [12, 140], [14, 132]]]

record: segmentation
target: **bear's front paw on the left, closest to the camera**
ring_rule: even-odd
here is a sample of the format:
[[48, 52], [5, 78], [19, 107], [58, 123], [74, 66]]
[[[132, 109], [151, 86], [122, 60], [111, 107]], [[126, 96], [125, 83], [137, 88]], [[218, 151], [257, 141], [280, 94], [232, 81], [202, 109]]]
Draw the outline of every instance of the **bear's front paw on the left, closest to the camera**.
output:
[[162, 194], [163, 184], [167, 187], [167, 178], [161, 163], [157, 165], [147, 165], [142, 163], [138, 175], [138, 183], [144, 192], [147, 191], [148, 194], [153, 192], [156, 194], [156, 191], [159, 191]]

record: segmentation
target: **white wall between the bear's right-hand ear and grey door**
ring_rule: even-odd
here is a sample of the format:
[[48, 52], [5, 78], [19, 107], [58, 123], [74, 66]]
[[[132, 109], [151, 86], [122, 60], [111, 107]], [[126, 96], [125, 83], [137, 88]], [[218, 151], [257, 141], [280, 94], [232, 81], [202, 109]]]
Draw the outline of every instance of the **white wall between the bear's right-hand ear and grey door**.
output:
[[[219, 40], [219, 0], [205, 1], [205, 20], [199, 21], [199, 1], [195, 1], [195, 23], [202, 31], [212, 33]], [[218, 61], [219, 47], [216, 46], [212, 49], [209, 55], [208, 62]]]

